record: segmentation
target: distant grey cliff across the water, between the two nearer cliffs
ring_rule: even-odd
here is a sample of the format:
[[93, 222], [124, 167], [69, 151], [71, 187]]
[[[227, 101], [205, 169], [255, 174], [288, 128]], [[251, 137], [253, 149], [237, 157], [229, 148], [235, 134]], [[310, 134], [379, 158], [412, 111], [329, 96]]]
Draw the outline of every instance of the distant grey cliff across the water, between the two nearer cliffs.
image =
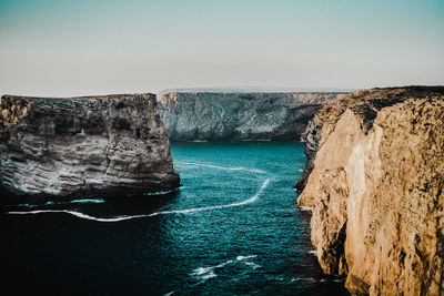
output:
[[172, 141], [299, 140], [322, 105], [344, 95], [168, 92], [159, 112]]

